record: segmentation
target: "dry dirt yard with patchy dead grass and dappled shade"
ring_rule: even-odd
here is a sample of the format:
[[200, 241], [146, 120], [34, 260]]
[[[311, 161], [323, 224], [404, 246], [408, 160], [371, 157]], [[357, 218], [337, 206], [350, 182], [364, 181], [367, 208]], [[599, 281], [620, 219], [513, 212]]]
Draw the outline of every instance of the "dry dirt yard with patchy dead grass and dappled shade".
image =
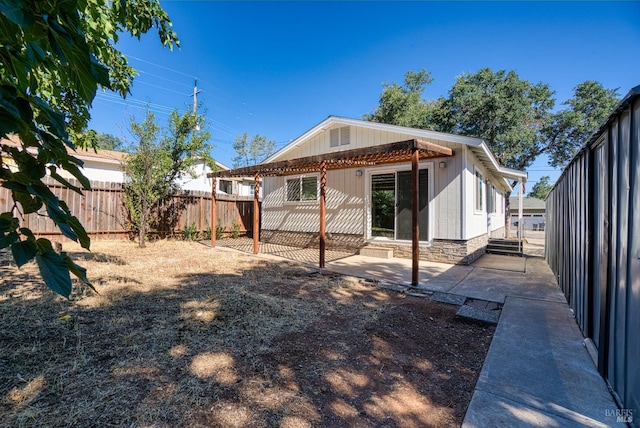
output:
[[459, 426], [494, 328], [189, 242], [64, 244], [69, 301], [0, 255], [0, 426]]

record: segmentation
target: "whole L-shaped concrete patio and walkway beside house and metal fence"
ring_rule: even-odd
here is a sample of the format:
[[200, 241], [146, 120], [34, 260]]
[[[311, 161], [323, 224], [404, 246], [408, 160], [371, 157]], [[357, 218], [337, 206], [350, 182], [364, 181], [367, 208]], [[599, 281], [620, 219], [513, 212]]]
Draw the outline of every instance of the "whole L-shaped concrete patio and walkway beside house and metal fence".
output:
[[[503, 304], [463, 427], [625, 426], [609, 416], [617, 406], [541, 257], [544, 241], [529, 239], [525, 251], [523, 258], [488, 254], [472, 266], [420, 264], [421, 292]], [[353, 255], [326, 268], [383, 284], [411, 281], [405, 259]]]

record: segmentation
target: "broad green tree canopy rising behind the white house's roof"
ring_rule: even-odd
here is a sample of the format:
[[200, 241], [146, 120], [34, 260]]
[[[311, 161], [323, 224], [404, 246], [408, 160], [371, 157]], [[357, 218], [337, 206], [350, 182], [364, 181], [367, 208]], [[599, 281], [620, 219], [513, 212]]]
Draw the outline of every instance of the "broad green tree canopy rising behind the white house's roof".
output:
[[562, 166], [586, 142], [619, 101], [617, 89], [585, 81], [564, 110], [553, 113], [548, 84], [520, 79], [513, 70], [483, 68], [459, 76], [447, 97], [421, 98], [430, 74], [408, 71], [405, 85], [384, 84], [376, 122], [452, 132], [484, 139], [501, 165], [524, 170], [541, 154]]

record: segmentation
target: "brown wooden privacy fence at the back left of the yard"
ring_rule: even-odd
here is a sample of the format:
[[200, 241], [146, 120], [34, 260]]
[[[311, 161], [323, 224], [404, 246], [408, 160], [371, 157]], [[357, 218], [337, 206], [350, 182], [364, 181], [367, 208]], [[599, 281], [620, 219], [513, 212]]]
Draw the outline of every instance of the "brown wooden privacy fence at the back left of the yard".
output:
[[[50, 177], [45, 177], [45, 184], [60, 199], [64, 200], [71, 213], [80, 220], [92, 238], [123, 239], [130, 235], [127, 225], [127, 210], [124, 206], [124, 189], [122, 183], [91, 182], [91, 190], [83, 195], [67, 189]], [[69, 180], [79, 186], [75, 180]], [[0, 187], [0, 212], [11, 211], [13, 200], [8, 189]], [[225, 235], [233, 230], [237, 233], [252, 232], [253, 197], [216, 195], [216, 211], [219, 227]], [[153, 233], [159, 236], [180, 234], [189, 227], [202, 233], [211, 225], [211, 193], [202, 191], [183, 191], [161, 204], [159, 218]], [[42, 208], [37, 213], [21, 215], [17, 211], [14, 216], [20, 219], [24, 227], [29, 227], [37, 236], [60, 237], [62, 234]]]

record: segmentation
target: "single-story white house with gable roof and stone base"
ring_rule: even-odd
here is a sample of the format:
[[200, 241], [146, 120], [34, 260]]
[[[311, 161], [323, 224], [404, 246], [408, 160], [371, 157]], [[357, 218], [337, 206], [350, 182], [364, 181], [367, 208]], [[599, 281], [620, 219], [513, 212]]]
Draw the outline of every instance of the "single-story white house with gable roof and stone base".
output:
[[527, 178], [480, 138], [337, 116], [259, 165], [211, 175], [263, 177], [263, 242], [414, 260], [415, 242], [421, 260], [461, 264], [504, 237], [510, 183]]

